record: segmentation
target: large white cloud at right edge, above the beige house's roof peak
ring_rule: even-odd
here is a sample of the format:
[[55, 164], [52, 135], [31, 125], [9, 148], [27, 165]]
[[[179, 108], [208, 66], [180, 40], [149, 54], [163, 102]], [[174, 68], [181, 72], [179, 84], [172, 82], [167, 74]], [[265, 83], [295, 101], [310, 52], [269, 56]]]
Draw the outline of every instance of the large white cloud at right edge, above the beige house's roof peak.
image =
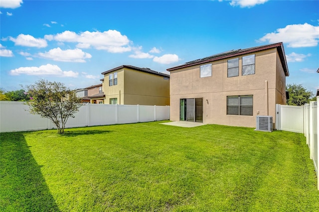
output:
[[275, 32], [267, 33], [259, 41], [269, 43], [285, 42], [288, 47], [311, 47], [317, 46], [319, 42], [319, 26], [308, 23], [287, 25]]

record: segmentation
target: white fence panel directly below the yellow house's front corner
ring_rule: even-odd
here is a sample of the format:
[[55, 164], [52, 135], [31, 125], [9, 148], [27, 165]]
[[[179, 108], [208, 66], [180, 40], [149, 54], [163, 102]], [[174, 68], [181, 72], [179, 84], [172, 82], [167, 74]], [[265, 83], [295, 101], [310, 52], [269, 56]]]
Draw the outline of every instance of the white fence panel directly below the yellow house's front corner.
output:
[[137, 123], [138, 106], [117, 105], [118, 106], [118, 123]]

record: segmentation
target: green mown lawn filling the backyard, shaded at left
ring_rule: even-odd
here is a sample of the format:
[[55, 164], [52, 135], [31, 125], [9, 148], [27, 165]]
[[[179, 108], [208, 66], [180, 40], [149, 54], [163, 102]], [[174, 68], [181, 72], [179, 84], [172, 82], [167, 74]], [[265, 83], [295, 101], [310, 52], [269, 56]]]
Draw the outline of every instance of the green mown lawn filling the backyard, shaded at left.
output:
[[0, 211], [319, 210], [303, 134], [161, 122], [1, 133]]

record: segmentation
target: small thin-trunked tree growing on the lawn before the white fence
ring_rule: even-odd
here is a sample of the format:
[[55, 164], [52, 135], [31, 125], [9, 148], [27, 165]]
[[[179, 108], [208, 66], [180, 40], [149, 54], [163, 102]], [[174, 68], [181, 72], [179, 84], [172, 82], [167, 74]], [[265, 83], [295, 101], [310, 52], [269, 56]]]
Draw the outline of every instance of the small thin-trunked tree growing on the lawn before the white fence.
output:
[[27, 86], [30, 101], [30, 113], [49, 118], [57, 127], [58, 133], [63, 134], [69, 117], [82, 106], [81, 99], [63, 83], [40, 80], [34, 85]]

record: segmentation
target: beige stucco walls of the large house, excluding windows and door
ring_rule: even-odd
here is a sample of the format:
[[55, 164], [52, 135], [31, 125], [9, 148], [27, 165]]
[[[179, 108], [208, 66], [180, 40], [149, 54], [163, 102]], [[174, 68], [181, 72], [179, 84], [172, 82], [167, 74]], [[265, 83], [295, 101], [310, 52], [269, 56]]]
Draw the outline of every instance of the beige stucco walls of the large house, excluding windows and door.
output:
[[[255, 54], [255, 74], [242, 76], [242, 57]], [[227, 77], [227, 61], [239, 58], [239, 76]], [[200, 65], [212, 76], [200, 78]], [[180, 99], [203, 98], [203, 123], [256, 126], [256, 115], [271, 115], [286, 103], [286, 76], [276, 48], [170, 71], [170, 120], [179, 121]], [[227, 115], [227, 96], [253, 95], [253, 115]]]

